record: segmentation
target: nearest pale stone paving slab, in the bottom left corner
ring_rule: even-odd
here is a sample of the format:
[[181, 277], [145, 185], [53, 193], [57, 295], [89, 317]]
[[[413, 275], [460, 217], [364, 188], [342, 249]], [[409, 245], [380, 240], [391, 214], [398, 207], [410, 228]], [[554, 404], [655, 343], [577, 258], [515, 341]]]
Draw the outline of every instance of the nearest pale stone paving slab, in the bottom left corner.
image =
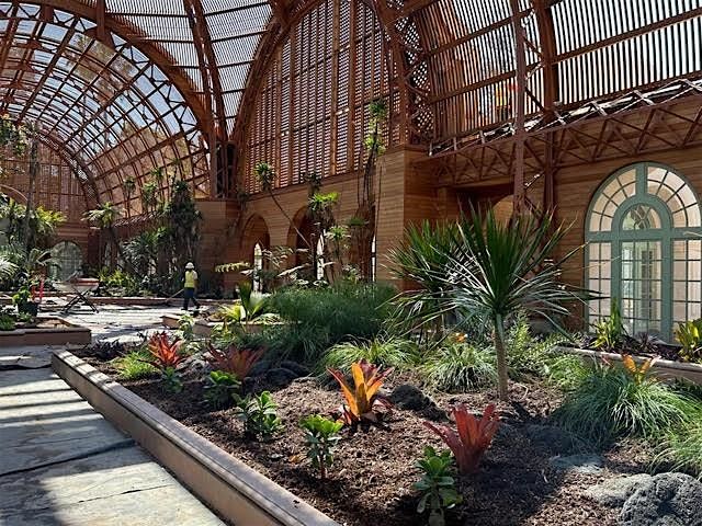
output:
[[3, 526], [223, 523], [139, 448], [0, 477]]

